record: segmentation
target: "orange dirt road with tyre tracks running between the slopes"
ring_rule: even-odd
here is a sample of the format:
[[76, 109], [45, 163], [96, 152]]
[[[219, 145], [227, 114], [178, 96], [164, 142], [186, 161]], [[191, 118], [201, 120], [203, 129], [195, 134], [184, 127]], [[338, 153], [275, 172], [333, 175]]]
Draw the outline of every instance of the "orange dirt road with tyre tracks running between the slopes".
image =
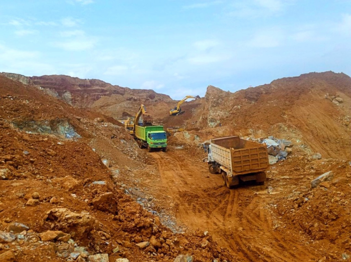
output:
[[[233, 253], [233, 261], [309, 261], [317, 254], [299, 234], [275, 230], [271, 208], [275, 194], [266, 185], [246, 185], [229, 190], [206, 163], [183, 153], [151, 153], [158, 163], [160, 185], [177, 205], [177, 219], [191, 229], [208, 230], [221, 246]], [[255, 192], [259, 192], [255, 194]]]

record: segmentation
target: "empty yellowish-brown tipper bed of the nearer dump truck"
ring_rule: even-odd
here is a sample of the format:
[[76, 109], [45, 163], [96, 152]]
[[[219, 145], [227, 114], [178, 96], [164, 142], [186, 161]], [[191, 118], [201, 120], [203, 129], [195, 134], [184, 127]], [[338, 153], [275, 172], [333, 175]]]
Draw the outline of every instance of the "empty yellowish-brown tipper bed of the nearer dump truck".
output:
[[266, 145], [239, 136], [212, 139], [211, 150], [212, 158], [230, 170], [232, 175], [263, 172], [269, 166]]

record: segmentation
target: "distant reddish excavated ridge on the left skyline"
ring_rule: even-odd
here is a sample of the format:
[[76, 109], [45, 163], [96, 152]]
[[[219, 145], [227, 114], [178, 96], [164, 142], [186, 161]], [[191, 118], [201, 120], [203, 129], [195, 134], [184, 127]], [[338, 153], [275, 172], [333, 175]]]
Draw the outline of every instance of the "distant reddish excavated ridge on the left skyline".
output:
[[[114, 86], [97, 79], [79, 79], [64, 75], [25, 77], [12, 73], [0, 74], [12, 80], [20, 81], [23, 84], [43, 89], [49, 95], [61, 98], [73, 106], [94, 107], [101, 113], [104, 112], [101, 108], [107, 107], [106, 112], [108, 113], [109, 104], [113, 105], [121, 101], [128, 101], [129, 104], [130, 102], [140, 104], [150, 101], [172, 101], [169, 96], [158, 94], [153, 90]], [[111, 99], [106, 99], [106, 97]], [[100, 99], [102, 101], [99, 101]]]

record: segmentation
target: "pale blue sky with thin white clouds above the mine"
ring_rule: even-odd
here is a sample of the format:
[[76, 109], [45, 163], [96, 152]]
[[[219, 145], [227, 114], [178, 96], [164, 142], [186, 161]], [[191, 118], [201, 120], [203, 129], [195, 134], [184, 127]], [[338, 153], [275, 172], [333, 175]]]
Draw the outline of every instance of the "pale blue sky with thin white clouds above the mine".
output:
[[309, 72], [351, 76], [351, 0], [1, 0], [0, 72], [182, 99]]

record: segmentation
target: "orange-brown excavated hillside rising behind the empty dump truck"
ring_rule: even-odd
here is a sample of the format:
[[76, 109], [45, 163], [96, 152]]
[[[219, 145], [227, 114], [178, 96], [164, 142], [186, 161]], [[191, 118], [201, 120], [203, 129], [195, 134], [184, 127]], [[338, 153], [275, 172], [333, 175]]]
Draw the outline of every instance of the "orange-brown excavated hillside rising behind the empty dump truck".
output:
[[[204, 100], [187, 120], [189, 129], [227, 126], [228, 135], [274, 135], [323, 157], [351, 158], [351, 78], [345, 74], [304, 74], [236, 93], [209, 86]], [[217, 129], [209, 132], [216, 136]]]

